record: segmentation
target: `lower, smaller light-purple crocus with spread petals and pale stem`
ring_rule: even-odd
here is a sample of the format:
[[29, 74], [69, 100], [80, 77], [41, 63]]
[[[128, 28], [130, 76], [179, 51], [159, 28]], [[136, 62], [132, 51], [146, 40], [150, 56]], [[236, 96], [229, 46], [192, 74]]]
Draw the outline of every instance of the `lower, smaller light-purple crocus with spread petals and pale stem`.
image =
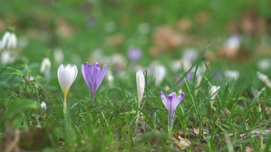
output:
[[169, 116], [168, 133], [170, 135], [171, 135], [172, 117], [173, 117], [174, 110], [176, 109], [176, 107], [178, 106], [178, 104], [180, 103], [180, 101], [183, 100], [184, 96], [185, 96], [184, 92], [181, 93], [178, 97], [176, 95], [176, 92], [173, 92], [172, 94], [169, 94], [168, 97], [166, 98], [166, 96], [163, 93], [163, 91], [161, 91], [161, 99], [162, 99], [164, 105], [166, 106], [166, 108], [168, 110], [168, 116]]

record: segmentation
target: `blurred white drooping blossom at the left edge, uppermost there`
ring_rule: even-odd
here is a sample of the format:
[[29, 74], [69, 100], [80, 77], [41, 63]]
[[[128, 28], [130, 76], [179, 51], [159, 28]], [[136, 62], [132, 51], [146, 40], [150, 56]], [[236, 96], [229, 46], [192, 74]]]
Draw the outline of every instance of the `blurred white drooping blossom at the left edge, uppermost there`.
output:
[[17, 47], [17, 37], [14, 33], [6, 31], [1, 41], [1, 50], [6, 49], [15, 49]]

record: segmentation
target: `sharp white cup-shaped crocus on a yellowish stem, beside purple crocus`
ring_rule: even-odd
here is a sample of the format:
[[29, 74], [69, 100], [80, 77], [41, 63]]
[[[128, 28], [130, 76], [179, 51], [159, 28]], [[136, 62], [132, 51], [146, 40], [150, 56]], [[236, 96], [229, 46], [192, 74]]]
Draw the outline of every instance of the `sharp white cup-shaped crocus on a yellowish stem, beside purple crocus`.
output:
[[71, 85], [76, 79], [77, 72], [78, 70], [76, 65], [71, 67], [70, 64], [68, 64], [65, 68], [63, 64], [61, 64], [61, 66], [59, 66], [57, 70], [58, 82], [64, 94], [64, 105], [63, 105], [64, 114], [66, 114], [67, 111], [67, 94], [69, 92]]

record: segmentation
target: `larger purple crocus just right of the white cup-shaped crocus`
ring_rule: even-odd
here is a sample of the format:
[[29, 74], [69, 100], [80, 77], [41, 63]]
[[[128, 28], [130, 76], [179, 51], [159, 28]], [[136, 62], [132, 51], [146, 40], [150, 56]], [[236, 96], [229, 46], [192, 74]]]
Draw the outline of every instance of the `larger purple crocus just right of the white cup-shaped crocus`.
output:
[[104, 79], [106, 69], [107, 65], [105, 64], [101, 71], [98, 62], [95, 62], [93, 67], [87, 62], [85, 62], [85, 65], [82, 64], [82, 74], [89, 90], [91, 90], [93, 102], [96, 91]]

